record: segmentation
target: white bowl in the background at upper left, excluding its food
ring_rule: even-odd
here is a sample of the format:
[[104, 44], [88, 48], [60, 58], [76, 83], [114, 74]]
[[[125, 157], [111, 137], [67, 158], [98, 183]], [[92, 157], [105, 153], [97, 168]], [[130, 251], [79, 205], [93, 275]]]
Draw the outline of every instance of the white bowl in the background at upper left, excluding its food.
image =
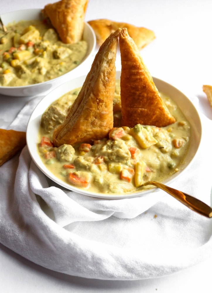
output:
[[[42, 19], [41, 9], [25, 9], [18, 10], [1, 15], [1, 20], [4, 25], [8, 23], [13, 23], [13, 21], [18, 22], [22, 20], [36, 20]], [[96, 47], [96, 37], [93, 29], [88, 23], [85, 23], [83, 31], [83, 40], [88, 43], [88, 51], [82, 62], [71, 71], [67, 72], [64, 75], [61, 75], [57, 78], [51, 79], [49, 81], [42, 82], [40, 84], [32, 84], [28, 86], [0, 86], [0, 94], [6, 96], [34, 96], [45, 91], [53, 89], [59, 84], [64, 83], [64, 80], [73, 79], [76, 77], [76, 71], [81, 69], [85, 62], [89, 62], [89, 57], [93, 54]], [[93, 57], [92, 57], [93, 60]]]

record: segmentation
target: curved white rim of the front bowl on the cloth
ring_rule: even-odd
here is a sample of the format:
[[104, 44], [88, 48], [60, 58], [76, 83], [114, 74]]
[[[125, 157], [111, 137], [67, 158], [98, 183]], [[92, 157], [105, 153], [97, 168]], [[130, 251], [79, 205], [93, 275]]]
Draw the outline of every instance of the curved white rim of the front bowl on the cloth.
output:
[[[117, 73], [117, 79], [119, 79], [121, 71], [116, 71], [116, 73]], [[153, 187], [150, 189], [133, 191], [130, 193], [125, 193], [125, 194], [122, 194], [122, 193], [114, 193], [114, 194], [93, 193], [88, 190], [77, 188], [71, 184], [65, 183], [64, 181], [58, 179], [56, 176], [54, 176], [54, 174], [52, 174], [45, 167], [45, 165], [41, 161], [40, 156], [37, 153], [36, 144], [38, 143], [37, 132], [38, 132], [38, 127], [40, 126], [40, 118], [41, 118], [42, 113], [45, 111], [45, 109], [47, 109], [47, 107], [51, 103], [54, 102], [54, 100], [57, 100], [60, 96], [62, 96], [66, 92], [71, 91], [72, 89], [77, 88], [79, 86], [82, 86], [85, 79], [86, 79], [86, 75], [78, 76], [77, 78], [72, 79], [71, 81], [68, 81], [68, 82], [65, 82], [64, 84], [61, 84], [57, 88], [54, 88], [44, 98], [42, 98], [42, 100], [37, 104], [37, 106], [33, 110], [32, 114], [30, 115], [28, 125], [27, 125], [26, 141], [27, 141], [28, 151], [29, 151], [30, 156], [33, 159], [34, 163], [42, 171], [42, 173], [44, 173], [48, 178], [50, 178], [55, 183], [59, 184], [61, 187], [64, 187], [70, 191], [75, 191], [76, 193], [88, 195], [90, 197], [98, 197], [98, 198], [103, 198], [103, 199], [124, 199], [124, 198], [139, 197], [139, 196], [142, 196], [142, 195], [145, 195], [148, 193], [157, 192], [159, 190], [159, 188]], [[178, 178], [182, 174], [185, 173], [185, 171], [191, 166], [191, 164], [195, 160], [195, 158], [198, 154], [199, 146], [200, 146], [200, 142], [201, 142], [202, 125], [201, 125], [200, 116], [196, 110], [196, 107], [194, 106], [192, 101], [187, 96], [184, 95], [184, 93], [182, 93], [179, 89], [175, 88], [173, 85], [168, 84], [167, 82], [165, 82], [161, 79], [153, 77], [153, 81], [160, 92], [162, 92], [160, 90], [160, 88], [168, 88], [169, 90], [175, 91], [177, 94], [180, 94], [182, 96], [182, 100], [186, 99], [186, 102], [189, 104], [189, 107], [187, 110], [189, 112], [192, 109], [192, 115], [190, 115], [189, 117], [187, 117], [186, 115], [185, 116], [186, 116], [187, 120], [189, 121], [189, 123], [191, 124], [191, 126], [194, 125], [194, 127], [196, 127], [195, 129], [193, 129], [194, 127], [192, 127], [193, 132], [191, 134], [191, 142], [190, 142], [190, 146], [189, 146], [189, 149], [192, 150], [192, 153], [189, 154], [189, 151], [187, 151], [186, 158], [188, 156], [190, 156], [189, 161], [185, 159], [182, 162], [182, 168], [179, 171], [179, 173], [178, 172], [175, 173], [176, 175], [173, 174], [171, 177], [167, 178], [166, 180], [163, 180], [163, 182], [162, 182], [164, 184], [166, 184], [166, 183], [171, 184], [173, 181], [178, 180]], [[79, 85], [79, 84], [81, 84], [81, 85]], [[73, 85], [76, 85], [76, 86], [73, 88]], [[67, 90], [67, 88], [69, 88], [69, 90]], [[173, 97], [171, 97], [171, 98], [173, 98]], [[43, 106], [45, 106], [45, 107], [43, 107]], [[180, 108], [180, 105], [178, 105], [178, 106]], [[42, 111], [39, 110], [40, 107], [42, 108]], [[181, 110], [184, 111], [182, 108], [181, 108]], [[194, 117], [195, 117], [195, 123], [193, 121]], [[31, 140], [32, 134], [33, 134], [33, 142]], [[36, 140], [36, 142], [35, 142], [35, 140]]]

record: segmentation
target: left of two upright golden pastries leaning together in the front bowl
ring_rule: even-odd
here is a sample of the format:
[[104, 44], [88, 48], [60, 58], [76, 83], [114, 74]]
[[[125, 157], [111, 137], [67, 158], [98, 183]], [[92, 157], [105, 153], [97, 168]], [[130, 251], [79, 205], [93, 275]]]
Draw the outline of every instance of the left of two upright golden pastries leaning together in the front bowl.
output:
[[115, 59], [120, 30], [111, 34], [96, 54], [90, 72], [65, 121], [54, 130], [55, 146], [74, 146], [81, 142], [102, 139], [113, 127]]

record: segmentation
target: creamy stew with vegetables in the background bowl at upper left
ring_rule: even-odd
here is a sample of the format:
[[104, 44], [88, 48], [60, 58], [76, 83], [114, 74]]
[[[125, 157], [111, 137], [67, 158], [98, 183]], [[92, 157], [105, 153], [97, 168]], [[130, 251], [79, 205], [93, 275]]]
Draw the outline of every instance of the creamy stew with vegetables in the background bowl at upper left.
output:
[[86, 55], [82, 40], [64, 44], [47, 21], [20, 21], [0, 33], [0, 86], [26, 86], [61, 76]]

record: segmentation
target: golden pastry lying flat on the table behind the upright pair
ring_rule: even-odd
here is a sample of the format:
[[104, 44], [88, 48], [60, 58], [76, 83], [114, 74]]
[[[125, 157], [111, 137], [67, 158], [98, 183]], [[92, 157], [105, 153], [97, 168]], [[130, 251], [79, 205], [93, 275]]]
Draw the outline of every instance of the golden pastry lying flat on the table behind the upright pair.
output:
[[88, 23], [95, 32], [98, 45], [102, 45], [105, 39], [118, 28], [127, 28], [129, 36], [133, 38], [139, 50], [155, 39], [155, 34], [152, 30], [143, 27], [139, 28], [129, 23], [116, 22], [109, 19], [96, 19], [88, 21]]

